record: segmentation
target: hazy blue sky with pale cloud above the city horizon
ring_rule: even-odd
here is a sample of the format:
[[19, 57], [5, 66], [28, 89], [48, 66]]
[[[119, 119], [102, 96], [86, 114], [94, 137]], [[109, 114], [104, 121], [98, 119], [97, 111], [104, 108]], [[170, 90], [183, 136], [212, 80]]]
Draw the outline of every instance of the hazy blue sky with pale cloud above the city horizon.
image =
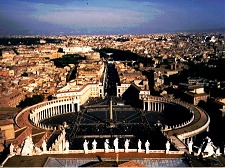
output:
[[143, 34], [225, 27], [225, 0], [0, 0], [0, 35]]

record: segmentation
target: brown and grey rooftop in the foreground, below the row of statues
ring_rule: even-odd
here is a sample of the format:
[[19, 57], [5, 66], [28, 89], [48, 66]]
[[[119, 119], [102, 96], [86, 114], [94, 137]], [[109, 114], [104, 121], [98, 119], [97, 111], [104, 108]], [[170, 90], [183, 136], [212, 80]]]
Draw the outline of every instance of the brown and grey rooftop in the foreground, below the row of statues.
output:
[[[184, 157], [179, 154], [145, 154], [145, 153], [119, 153], [119, 161], [130, 161], [144, 166], [176, 166], [187, 167], [183, 162]], [[92, 153], [92, 154], [52, 154], [38, 156], [13, 156], [4, 167], [78, 167], [89, 162], [115, 161], [115, 153]], [[131, 162], [130, 162], [131, 163]], [[110, 163], [109, 163], [110, 164]], [[101, 166], [101, 165], [99, 165]], [[105, 166], [105, 165], [103, 165]]]

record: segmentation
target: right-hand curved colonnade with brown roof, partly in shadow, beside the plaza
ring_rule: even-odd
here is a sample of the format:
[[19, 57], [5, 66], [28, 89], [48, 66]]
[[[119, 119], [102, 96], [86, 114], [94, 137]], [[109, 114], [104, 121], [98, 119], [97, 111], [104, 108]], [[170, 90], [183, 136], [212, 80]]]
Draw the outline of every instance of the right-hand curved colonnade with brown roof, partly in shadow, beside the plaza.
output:
[[187, 119], [183, 123], [165, 126], [163, 131], [168, 135], [168, 137], [177, 136], [180, 140], [185, 140], [207, 130], [209, 127], [209, 115], [197, 106], [180, 100], [166, 99], [157, 96], [146, 96], [143, 97], [142, 100], [144, 110], [158, 109], [159, 112], [162, 112], [162, 110], [166, 109], [168, 104], [172, 104], [182, 106], [193, 114], [190, 119]]

